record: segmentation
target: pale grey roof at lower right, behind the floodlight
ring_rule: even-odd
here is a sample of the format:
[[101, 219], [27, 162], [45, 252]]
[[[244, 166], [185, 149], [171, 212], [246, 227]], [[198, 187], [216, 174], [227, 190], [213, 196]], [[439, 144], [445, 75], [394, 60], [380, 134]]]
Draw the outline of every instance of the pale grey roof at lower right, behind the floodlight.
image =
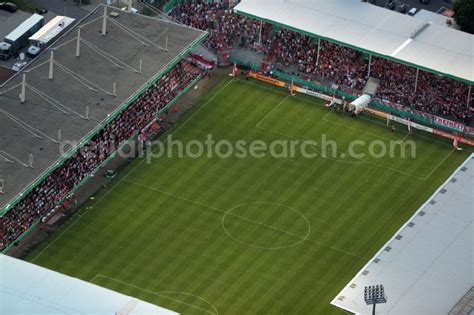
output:
[[368, 314], [364, 287], [382, 284], [377, 313], [448, 314], [474, 286], [473, 187], [471, 154], [331, 304]]

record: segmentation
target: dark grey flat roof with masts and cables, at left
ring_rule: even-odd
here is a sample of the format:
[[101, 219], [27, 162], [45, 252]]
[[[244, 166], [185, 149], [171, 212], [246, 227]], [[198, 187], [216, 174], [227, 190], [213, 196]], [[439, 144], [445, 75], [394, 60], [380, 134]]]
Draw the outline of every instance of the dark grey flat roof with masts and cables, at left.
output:
[[[55, 142], [58, 130], [61, 130], [63, 141], [79, 142], [90, 137], [101, 123], [117, 114], [122, 104], [127, 105], [135, 93], [176, 63], [180, 55], [206, 35], [206, 32], [187, 26], [109, 7], [108, 13], [115, 11], [119, 17], [107, 21], [107, 35], [102, 36], [103, 8], [98, 7], [79, 24], [81, 38], [90, 43], [81, 44], [80, 57], [75, 56], [77, 25], [51, 46], [55, 48], [56, 62], [87, 79], [88, 85], [97, 91], [57, 65], [54, 79], [48, 80], [49, 51], [24, 69], [29, 85], [24, 104], [19, 99], [22, 74], [0, 87], [0, 92], [4, 92], [0, 94], [0, 180], [4, 181], [0, 209], [3, 211], [64, 158]], [[138, 39], [135, 34], [140, 34]], [[168, 51], [158, 47], [165, 47], [166, 37]], [[140, 60], [142, 73], [137, 73]], [[116, 96], [110, 95], [114, 82], [117, 84]], [[54, 101], [48, 101], [48, 97], [40, 94]], [[89, 119], [84, 118], [86, 107], [89, 107]], [[68, 149], [71, 151], [70, 147]], [[33, 168], [28, 167], [30, 155]]]

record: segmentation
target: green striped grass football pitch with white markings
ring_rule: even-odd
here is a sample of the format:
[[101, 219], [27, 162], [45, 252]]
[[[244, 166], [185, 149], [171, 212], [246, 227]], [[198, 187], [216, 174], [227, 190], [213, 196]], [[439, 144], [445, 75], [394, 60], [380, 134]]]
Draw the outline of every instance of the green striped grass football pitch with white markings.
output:
[[185, 314], [343, 313], [332, 298], [467, 157], [230, 79], [171, 132], [268, 143], [326, 134], [338, 152], [355, 139], [413, 140], [417, 157], [138, 159], [28, 260]]

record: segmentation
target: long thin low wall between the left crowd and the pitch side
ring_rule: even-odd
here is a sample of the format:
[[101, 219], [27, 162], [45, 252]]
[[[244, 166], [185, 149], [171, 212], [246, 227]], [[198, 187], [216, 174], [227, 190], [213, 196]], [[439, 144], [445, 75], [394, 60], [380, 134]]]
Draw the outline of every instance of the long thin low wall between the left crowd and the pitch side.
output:
[[[154, 121], [156, 121], [156, 119], [158, 119], [158, 117], [163, 114], [166, 110], [168, 110], [171, 106], [173, 106], [177, 101], [178, 99], [180, 99], [184, 94], [186, 94], [193, 86], [196, 85], [196, 83], [202, 79], [202, 75], [199, 75], [196, 79], [194, 79], [186, 88], [183, 89], [183, 91], [181, 91], [175, 98], [173, 98], [164, 108], [162, 108], [160, 111], [157, 112], [157, 114], [155, 115], [155, 117], [151, 120], [151, 122], [147, 125], [147, 127], [149, 125], [151, 125]], [[146, 129], [147, 127], [145, 127], [144, 129]], [[127, 145], [129, 145], [132, 141], [134, 141], [137, 136], [140, 134], [141, 130], [138, 130], [137, 132], [135, 132], [129, 139], [127, 139], [126, 141], [124, 141], [120, 146], [119, 148], [114, 151], [112, 154], [110, 154], [109, 157], [107, 157], [101, 164], [99, 164], [99, 166], [97, 166], [91, 173], [89, 173], [88, 176], [86, 176], [79, 184], [77, 184], [67, 195], [65, 195], [62, 199], [60, 199], [58, 201], [57, 204], [62, 204], [65, 200], [67, 200], [71, 195], [73, 195], [80, 187], [82, 187], [83, 185], [85, 185], [91, 178], [94, 174], [96, 174], [101, 168], [103, 168], [110, 160], [112, 160], [116, 155], [117, 155], [117, 152], [123, 150]], [[10, 245], [8, 245], [3, 251], [2, 251], [2, 254], [6, 254], [13, 246], [16, 242], [19, 242], [21, 241], [22, 239], [24, 239], [31, 231], [33, 231], [37, 226], [38, 224], [41, 222], [41, 220], [47, 216], [48, 214], [50, 214], [51, 212], [53, 212], [54, 209], [51, 209], [48, 213], [44, 214], [43, 216], [41, 216], [38, 220], [36, 220], [25, 232], [23, 232], [15, 241], [13, 241]]]

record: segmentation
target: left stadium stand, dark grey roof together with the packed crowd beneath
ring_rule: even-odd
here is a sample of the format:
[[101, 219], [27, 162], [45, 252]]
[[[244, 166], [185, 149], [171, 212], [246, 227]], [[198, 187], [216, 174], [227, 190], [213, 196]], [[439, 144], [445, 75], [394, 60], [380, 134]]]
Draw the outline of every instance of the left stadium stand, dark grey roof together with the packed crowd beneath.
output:
[[100, 6], [26, 69], [25, 85], [0, 88], [0, 251], [201, 77], [181, 59], [205, 36]]

